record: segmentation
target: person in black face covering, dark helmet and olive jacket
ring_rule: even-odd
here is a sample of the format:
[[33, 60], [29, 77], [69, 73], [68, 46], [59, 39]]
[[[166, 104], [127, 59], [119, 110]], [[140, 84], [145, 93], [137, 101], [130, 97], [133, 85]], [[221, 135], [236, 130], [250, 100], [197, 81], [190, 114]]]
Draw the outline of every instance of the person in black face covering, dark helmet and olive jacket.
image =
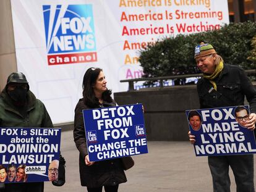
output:
[[[30, 91], [23, 73], [14, 72], [7, 78], [0, 94], [0, 127], [52, 128], [45, 105]], [[1, 183], [1, 192], [43, 192], [43, 182]]]

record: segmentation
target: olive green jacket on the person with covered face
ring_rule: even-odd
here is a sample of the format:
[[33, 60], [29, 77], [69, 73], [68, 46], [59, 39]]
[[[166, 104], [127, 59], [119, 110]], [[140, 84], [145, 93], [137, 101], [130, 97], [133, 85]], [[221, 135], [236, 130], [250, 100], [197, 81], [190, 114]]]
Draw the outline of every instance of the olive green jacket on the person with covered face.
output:
[[0, 95], [0, 127], [53, 127], [45, 105], [36, 99], [31, 91], [28, 91], [27, 101], [27, 113], [24, 117], [12, 104], [12, 100], [4, 88]]

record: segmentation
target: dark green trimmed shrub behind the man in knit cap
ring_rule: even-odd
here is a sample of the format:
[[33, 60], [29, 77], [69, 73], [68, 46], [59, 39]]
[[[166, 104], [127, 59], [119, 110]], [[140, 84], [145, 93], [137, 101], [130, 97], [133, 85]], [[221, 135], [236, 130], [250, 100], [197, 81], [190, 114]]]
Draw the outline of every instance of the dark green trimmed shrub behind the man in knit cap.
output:
[[200, 73], [194, 61], [194, 48], [201, 41], [210, 43], [227, 64], [243, 69], [256, 67], [255, 22], [230, 23], [220, 30], [163, 38], [140, 50], [144, 77]]

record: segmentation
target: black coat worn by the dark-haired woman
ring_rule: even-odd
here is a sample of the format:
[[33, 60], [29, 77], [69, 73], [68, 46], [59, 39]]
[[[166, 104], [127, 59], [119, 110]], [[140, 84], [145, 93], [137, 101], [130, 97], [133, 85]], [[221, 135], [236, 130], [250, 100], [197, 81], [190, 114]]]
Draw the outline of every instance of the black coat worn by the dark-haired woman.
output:
[[[116, 102], [103, 102], [103, 107], [116, 106]], [[99, 106], [100, 107], [100, 106]], [[91, 166], [85, 165], [85, 156], [87, 155], [87, 144], [85, 138], [85, 128], [83, 124], [83, 109], [90, 109], [83, 100], [80, 99], [75, 107], [74, 120], [74, 141], [80, 152], [79, 171], [82, 186], [91, 188], [104, 185], [117, 185], [126, 182], [126, 175], [122, 166], [121, 159], [111, 159], [107, 161], [95, 162]]]

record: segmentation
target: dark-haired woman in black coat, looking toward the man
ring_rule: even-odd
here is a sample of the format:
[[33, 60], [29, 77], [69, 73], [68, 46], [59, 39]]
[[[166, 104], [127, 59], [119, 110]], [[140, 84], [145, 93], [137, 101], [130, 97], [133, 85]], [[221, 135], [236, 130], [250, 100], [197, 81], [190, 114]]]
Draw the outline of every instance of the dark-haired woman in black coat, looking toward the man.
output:
[[127, 181], [121, 159], [90, 162], [87, 154], [82, 110], [116, 106], [106, 83], [102, 69], [94, 67], [88, 69], [83, 76], [83, 98], [75, 107], [74, 141], [80, 152], [81, 185], [87, 186], [88, 192], [101, 192], [103, 186], [106, 192], [115, 192], [119, 183]]

